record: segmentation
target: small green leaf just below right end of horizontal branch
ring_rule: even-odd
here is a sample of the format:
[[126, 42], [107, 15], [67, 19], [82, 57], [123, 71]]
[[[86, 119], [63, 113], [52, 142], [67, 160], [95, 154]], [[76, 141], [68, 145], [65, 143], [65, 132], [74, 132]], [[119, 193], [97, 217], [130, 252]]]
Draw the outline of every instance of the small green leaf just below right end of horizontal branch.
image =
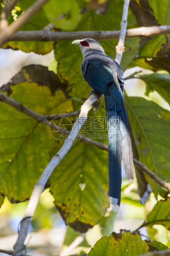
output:
[[163, 47], [162, 45], [166, 43], [166, 37], [164, 35], [154, 36], [147, 43], [140, 48], [139, 57], [140, 58], [152, 58], [157, 57], [157, 53]]

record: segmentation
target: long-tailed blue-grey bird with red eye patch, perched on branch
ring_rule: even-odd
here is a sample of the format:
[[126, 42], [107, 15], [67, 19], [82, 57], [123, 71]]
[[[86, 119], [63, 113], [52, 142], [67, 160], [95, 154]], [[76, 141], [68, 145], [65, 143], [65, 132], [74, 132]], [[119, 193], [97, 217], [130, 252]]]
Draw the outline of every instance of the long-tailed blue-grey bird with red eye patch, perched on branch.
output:
[[133, 152], [128, 116], [123, 100], [124, 78], [119, 64], [108, 55], [96, 40], [84, 38], [79, 45], [83, 55], [81, 72], [93, 90], [105, 96], [108, 130], [109, 200], [114, 212], [121, 202], [121, 162], [127, 178], [133, 183]]

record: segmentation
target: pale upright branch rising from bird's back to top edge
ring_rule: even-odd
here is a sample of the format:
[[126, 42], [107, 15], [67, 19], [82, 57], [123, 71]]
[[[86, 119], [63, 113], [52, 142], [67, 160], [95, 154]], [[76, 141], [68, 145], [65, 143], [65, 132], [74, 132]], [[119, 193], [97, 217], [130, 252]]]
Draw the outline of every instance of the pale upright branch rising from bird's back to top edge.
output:
[[121, 63], [121, 58], [123, 55], [123, 52], [125, 50], [124, 47], [124, 42], [125, 42], [125, 36], [126, 36], [126, 27], [127, 27], [127, 18], [128, 18], [128, 9], [129, 9], [129, 2], [130, 0], [124, 0], [124, 5], [123, 5], [123, 15], [122, 15], [122, 20], [121, 20], [121, 33], [119, 36], [119, 43], [116, 46], [116, 62]]

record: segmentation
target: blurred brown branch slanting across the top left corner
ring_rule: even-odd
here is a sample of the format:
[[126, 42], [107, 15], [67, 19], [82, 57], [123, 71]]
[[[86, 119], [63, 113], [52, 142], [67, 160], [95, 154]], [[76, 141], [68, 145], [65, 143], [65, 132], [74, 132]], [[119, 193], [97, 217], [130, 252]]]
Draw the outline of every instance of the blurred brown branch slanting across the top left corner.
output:
[[0, 33], [0, 47], [12, 36], [21, 26], [23, 26], [30, 17], [32, 17], [41, 7], [48, 2], [48, 0], [37, 0], [31, 5], [26, 12], [19, 16], [16, 21], [13, 21], [7, 28], [1, 30]]

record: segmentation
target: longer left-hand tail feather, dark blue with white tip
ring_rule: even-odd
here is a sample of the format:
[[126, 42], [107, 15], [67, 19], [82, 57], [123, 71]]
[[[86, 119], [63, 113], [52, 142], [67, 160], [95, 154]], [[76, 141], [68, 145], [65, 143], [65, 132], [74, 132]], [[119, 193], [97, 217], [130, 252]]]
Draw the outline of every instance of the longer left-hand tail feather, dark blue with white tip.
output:
[[121, 132], [120, 117], [115, 111], [107, 118], [108, 149], [109, 149], [109, 199], [114, 212], [119, 210], [121, 202]]

